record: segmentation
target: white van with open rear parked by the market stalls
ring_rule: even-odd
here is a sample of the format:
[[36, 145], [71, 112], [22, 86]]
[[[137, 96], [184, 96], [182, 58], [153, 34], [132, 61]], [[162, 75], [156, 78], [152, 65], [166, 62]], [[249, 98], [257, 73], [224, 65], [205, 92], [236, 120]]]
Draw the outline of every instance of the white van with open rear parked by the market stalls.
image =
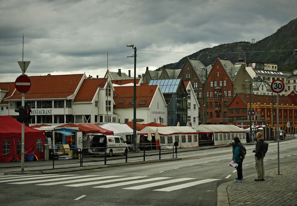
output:
[[[89, 147], [101, 147], [90, 149], [89, 154], [104, 154], [105, 147], [107, 147], [107, 154], [109, 157], [112, 154], [127, 153], [128, 145], [126, 141], [120, 136], [104, 135], [104, 134], [88, 134]], [[125, 155], [125, 154], [124, 154]]]

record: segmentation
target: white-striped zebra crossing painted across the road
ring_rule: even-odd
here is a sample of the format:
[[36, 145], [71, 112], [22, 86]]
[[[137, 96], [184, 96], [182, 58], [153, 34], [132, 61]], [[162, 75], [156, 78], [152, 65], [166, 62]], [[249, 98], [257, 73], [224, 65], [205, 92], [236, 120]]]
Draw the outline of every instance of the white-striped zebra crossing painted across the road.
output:
[[[90, 186], [92, 188], [121, 187], [121, 189], [129, 190], [152, 188], [154, 191], [168, 192], [218, 180], [220, 179], [197, 180], [197, 178], [128, 177], [122, 175], [0, 175], [0, 184], [34, 184], [38, 186], [62, 185], [67, 187]], [[159, 186], [165, 187], [161, 189], [154, 188], [159, 188]]]

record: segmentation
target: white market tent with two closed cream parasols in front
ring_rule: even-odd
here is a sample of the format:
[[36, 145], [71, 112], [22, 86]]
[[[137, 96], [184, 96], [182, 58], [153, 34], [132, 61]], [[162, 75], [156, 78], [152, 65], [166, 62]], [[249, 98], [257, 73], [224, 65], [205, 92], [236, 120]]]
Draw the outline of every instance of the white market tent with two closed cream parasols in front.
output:
[[178, 142], [178, 148], [198, 147], [198, 132], [191, 127], [145, 127], [137, 132], [137, 143], [139, 143], [140, 135], [147, 135], [149, 129], [151, 135], [156, 134], [158, 128], [161, 149], [173, 148], [173, 143]]

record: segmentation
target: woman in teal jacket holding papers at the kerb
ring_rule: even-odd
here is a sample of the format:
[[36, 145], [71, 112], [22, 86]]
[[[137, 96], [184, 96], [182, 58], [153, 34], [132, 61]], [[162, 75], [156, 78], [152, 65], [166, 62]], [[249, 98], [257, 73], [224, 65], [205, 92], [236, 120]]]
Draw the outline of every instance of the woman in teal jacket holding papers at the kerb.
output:
[[242, 144], [238, 137], [234, 137], [233, 148], [233, 162], [237, 163], [237, 178], [234, 182], [242, 182], [242, 159], [240, 158]]

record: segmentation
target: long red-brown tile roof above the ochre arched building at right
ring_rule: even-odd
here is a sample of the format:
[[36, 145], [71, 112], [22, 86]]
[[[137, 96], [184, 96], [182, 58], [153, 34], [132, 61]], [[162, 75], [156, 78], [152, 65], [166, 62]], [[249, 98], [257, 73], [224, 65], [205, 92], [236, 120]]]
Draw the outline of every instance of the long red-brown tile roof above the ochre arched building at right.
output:
[[[250, 102], [250, 96], [247, 93], [238, 93], [238, 96], [244, 101], [244, 103], [248, 104]], [[253, 103], [258, 103], [260, 102], [261, 104], [270, 104], [272, 103], [272, 95], [254, 95], [252, 94], [252, 104]], [[277, 96], [274, 96], [273, 98], [273, 103], [274, 105], [277, 103]], [[292, 105], [293, 102], [290, 99], [289, 96], [279, 96], [279, 105]]]

